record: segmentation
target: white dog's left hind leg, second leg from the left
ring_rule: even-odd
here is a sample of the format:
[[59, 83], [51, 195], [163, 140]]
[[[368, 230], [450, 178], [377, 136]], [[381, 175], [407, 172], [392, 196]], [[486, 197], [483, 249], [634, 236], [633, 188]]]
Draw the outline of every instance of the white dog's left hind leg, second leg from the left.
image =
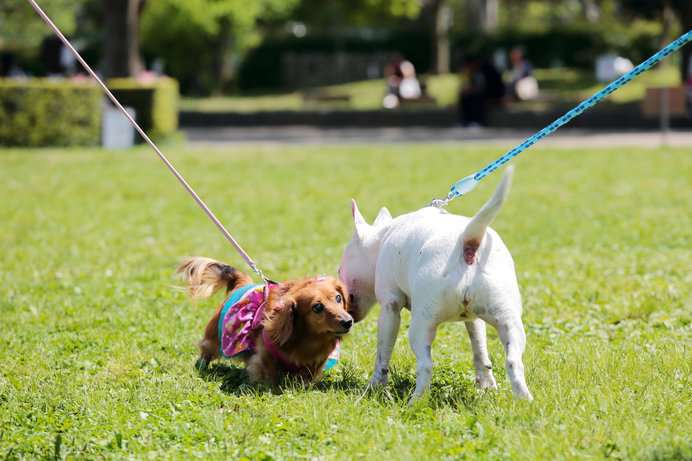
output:
[[437, 323], [430, 318], [423, 318], [417, 312], [430, 312], [429, 310], [411, 309], [411, 326], [408, 330], [408, 340], [411, 350], [416, 356], [416, 390], [409, 401], [409, 405], [420, 399], [430, 389], [432, 380], [432, 355], [430, 349], [437, 333]]

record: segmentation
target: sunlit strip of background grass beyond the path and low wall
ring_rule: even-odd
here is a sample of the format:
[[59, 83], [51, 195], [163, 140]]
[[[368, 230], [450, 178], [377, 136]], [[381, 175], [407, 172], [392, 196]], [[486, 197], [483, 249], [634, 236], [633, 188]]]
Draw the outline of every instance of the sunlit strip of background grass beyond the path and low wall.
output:
[[[574, 105], [606, 84], [598, 83], [592, 71], [576, 69], [537, 69], [536, 79], [542, 92], [539, 101], [519, 104], [521, 108], [545, 109], [552, 105]], [[419, 103], [403, 106], [398, 110], [418, 110], [421, 108], [444, 108], [456, 104], [459, 94], [459, 79], [456, 75], [431, 75], [425, 77], [428, 92], [435, 103]], [[631, 83], [622, 87], [604, 102], [605, 104], [625, 104], [641, 100], [647, 87], [679, 85], [680, 74], [677, 67], [659, 66], [645, 72]], [[365, 80], [316, 88], [327, 95], [347, 95], [348, 102], [304, 101], [301, 91], [256, 93], [245, 96], [224, 96], [209, 98], [183, 98], [182, 110], [202, 112], [263, 112], [263, 111], [302, 111], [302, 110], [384, 110], [382, 97], [385, 94], [382, 80]]]

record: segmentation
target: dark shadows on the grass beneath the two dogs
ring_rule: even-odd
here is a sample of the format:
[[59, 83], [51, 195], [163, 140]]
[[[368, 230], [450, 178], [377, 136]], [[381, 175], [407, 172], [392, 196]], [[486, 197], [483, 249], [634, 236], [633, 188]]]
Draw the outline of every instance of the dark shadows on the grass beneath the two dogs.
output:
[[[284, 391], [300, 391], [305, 387], [291, 377], [282, 380], [278, 388], [263, 383], [251, 383], [247, 371], [242, 365], [232, 362], [216, 362], [200, 370], [200, 377], [206, 381], [220, 382], [221, 391], [231, 395], [281, 395]], [[341, 392], [346, 395], [363, 395], [369, 400], [383, 404], [404, 406], [413, 396], [416, 388], [415, 368], [399, 369], [392, 367], [389, 385], [381, 390], [366, 392], [367, 376], [347, 363], [339, 364], [335, 369], [325, 373], [322, 381], [310, 386], [319, 392]], [[452, 407], [473, 409], [477, 406], [480, 394], [474, 381], [461, 370], [451, 367], [437, 367], [433, 373], [430, 392], [424, 402], [433, 408]]]

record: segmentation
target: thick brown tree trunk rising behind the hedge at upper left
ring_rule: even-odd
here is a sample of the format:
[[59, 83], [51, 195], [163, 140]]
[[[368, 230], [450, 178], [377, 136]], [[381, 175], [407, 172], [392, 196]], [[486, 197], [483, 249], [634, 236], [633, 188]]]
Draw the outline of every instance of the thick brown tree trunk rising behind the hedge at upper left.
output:
[[104, 77], [135, 77], [144, 65], [139, 53], [139, 14], [144, 0], [101, 0]]

